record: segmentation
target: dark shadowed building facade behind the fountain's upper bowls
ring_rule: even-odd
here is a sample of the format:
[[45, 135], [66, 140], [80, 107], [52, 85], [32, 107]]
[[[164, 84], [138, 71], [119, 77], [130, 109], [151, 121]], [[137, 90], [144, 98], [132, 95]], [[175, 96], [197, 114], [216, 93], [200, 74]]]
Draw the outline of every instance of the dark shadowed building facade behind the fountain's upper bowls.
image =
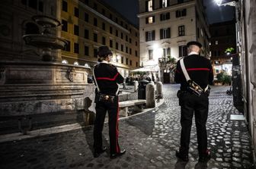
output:
[[[56, 17], [56, 1], [1, 1], [0, 5], [0, 60], [40, 60], [40, 49], [26, 45], [22, 36], [42, 31], [32, 16]], [[56, 34], [56, 30], [52, 34]]]

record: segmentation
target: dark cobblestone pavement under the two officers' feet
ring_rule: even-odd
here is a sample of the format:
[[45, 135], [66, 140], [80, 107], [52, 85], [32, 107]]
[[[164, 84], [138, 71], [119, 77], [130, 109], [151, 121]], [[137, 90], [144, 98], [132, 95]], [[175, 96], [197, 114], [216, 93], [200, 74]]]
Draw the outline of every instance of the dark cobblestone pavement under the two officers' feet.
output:
[[[240, 114], [232, 106], [229, 87], [213, 86], [207, 121], [212, 158], [198, 163], [197, 136], [193, 124], [189, 162], [175, 157], [181, 126], [178, 85], [164, 85], [165, 103], [155, 110], [120, 120], [120, 146], [126, 154], [110, 159], [109, 152], [92, 157], [92, 127], [33, 139], [0, 144], [0, 168], [253, 168], [251, 143], [244, 120], [230, 120]], [[104, 127], [108, 146], [108, 127]]]

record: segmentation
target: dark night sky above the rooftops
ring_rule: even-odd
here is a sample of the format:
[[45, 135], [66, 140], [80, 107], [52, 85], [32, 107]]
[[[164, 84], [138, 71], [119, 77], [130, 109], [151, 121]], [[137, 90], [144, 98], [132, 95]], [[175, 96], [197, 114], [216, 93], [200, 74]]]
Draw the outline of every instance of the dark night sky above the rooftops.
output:
[[[131, 23], [139, 26], [139, 19], [136, 14], [139, 13], [139, 0], [101, 0], [107, 2], [115, 8], [120, 14], [130, 20]], [[232, 20], [235, 16], [234, 7], [221, 6], [215, 4], [214, 0], [203, 0], [206, 6], [206, 14], [209, 23], [223, 22]]]

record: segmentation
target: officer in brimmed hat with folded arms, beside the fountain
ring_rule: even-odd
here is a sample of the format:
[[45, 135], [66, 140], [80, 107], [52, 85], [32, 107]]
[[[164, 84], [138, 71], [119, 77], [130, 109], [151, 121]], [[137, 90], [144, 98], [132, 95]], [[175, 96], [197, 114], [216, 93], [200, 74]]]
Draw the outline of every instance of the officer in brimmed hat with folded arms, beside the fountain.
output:
[[[108, 113], [109, 137], [110, 137], [110, 158], [117, 158], [123, 155], [126, 150], [120, 149], [118, 144], [118, 91], [117, 83], [123, 83], [123, 77], [117, 71], [117, 67], [110, 64], [112, 52], [107, 46], [101, 46], [98, 49], [98, 61], [94, 67], [95, 84], [98, 85], [96, 95], [101, 93], [104, 95], [102, 100], [95, 97], [96, 118], [94, 121], [94, 158], [98, 158], [101, 153], [106, 151], [106, 147], [102, 146], [102, 130], [104, 127], [104, 119]], [[94, 80], [95, 80], [94, 79]], [[104, 99], [110, 99], [110, 102]]]

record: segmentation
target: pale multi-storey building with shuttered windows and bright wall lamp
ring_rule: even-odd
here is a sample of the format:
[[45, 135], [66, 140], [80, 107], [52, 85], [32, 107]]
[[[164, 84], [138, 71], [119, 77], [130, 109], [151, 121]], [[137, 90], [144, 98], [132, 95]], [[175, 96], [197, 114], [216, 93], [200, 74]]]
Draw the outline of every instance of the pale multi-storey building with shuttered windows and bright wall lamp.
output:
[[173, 80], [168, 61], [187, 55], [187, 42], [202, 43], [201, 55], [209, 55], [210, 33], [203, 1], [139, 0], [138, 17], [140, 65], [155, 71], [162, 82]]

